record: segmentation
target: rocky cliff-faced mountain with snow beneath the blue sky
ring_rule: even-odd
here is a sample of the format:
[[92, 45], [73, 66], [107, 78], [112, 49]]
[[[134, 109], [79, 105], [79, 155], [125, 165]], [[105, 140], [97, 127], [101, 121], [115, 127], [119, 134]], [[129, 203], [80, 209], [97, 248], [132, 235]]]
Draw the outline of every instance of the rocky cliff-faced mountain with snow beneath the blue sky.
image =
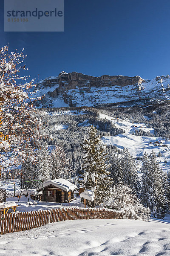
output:
[[39, 81], [39, 107], [78, 107], [141, 99], [170, 100], [170, 76], [144, 80], [140, 76], [87, 76], [65, 73]]

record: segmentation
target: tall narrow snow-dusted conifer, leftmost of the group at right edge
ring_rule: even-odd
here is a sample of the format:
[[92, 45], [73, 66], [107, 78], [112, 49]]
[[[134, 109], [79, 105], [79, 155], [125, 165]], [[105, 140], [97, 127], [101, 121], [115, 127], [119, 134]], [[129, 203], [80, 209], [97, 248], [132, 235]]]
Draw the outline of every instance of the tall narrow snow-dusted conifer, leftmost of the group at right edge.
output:
[[141, 167], [141, 202], [145, 207], [151, 208], [152, 189], [152, 173], [148, 154], [145, 152]]

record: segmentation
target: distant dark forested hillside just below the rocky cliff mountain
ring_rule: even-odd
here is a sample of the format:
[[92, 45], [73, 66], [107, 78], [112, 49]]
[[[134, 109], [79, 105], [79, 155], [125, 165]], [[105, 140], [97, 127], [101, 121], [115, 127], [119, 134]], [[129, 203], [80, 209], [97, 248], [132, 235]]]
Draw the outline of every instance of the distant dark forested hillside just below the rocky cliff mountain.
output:
[[[154, 134], [145, 131], [146, 129], [134, 129], [134, 135], [164, 137], [165, 140], [169, 138], [170, 108], [167, 102], [127, 108], [105, 105], [97, 108], [40, 109], [37, 115], [40, 115], [43, 120], [42, 133], [46, 135], [43, 141], [46, 141], [48, 145], [58, 144], [64, 147], [73, 173], [78, 173], [81, 168], [83, 157], [81, 145], [88, 134], [90, 125], [96, 126], [100, 137], [110, 137], [125, 132], [123, 127], [117, 128], [112, 120], [101, 118], [101, 113], [114, 119], [129, 120], [134, 123], [134, 126], [136, 123], [142, 123], [145, 127], [154, 129]], [[116, 152], [118, 148], [115, 145], [108, 145], [106, 150]], [[121, 149], [119, 153], [122, 153]]]

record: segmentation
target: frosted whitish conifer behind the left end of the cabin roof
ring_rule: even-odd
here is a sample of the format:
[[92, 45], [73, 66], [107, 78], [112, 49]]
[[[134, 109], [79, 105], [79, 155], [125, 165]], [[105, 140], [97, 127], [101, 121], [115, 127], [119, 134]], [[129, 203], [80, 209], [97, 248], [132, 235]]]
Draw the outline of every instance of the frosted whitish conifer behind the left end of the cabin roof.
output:
[[42, 146], [37, 150], [36, 178], [43, 182], [51, 179], [51, 165], [48, 146]]

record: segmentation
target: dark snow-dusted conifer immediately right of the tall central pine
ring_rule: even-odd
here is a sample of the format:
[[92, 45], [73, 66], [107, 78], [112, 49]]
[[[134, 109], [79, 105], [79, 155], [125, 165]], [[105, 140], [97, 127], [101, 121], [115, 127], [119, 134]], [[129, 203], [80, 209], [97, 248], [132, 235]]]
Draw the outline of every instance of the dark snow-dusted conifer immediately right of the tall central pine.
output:
[[109, 163], [111, 164], [109, 168], [110, 177], [113, 179], [113, 185], [123, 182], [123, 170], [121, 165], [121, 159], [118, 154], [114, 152], [111, 153], [109, 157]]

